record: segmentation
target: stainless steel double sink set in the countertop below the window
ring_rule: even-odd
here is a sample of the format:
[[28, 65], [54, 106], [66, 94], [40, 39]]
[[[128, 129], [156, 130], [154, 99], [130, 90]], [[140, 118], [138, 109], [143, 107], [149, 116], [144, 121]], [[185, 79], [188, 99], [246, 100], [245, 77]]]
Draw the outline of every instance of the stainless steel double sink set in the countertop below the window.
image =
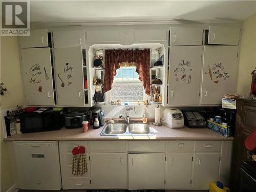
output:
[[124, 135], [155, 135], [150, 124], [144, 123], [114, 123], [106, 124], [100, 135], [124, 136]]

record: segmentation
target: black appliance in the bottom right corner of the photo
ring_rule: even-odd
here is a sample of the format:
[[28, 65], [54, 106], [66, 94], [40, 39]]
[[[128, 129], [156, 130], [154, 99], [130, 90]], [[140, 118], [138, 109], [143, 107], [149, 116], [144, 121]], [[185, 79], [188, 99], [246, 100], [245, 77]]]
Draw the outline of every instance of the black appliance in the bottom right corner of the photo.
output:
[[256, 161], [244, 161], [240, 168], [239, 192], [256, 191]]

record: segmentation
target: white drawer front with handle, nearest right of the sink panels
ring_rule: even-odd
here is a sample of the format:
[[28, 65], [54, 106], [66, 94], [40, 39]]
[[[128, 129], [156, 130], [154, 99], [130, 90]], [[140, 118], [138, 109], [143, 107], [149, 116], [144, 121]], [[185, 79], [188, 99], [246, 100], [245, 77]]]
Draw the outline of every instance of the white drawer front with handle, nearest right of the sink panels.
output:
[[188, 152], [193, 151], [194, 141], [168, 141], [168, 151]]

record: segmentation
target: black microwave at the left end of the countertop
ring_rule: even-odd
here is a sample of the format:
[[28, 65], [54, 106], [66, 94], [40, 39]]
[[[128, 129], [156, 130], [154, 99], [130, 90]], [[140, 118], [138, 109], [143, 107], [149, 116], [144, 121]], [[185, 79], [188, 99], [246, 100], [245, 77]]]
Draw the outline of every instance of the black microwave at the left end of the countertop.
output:
[[22, 133], [59, 130], [64, 124], [62, 111], [20, 114], [20, 131]]

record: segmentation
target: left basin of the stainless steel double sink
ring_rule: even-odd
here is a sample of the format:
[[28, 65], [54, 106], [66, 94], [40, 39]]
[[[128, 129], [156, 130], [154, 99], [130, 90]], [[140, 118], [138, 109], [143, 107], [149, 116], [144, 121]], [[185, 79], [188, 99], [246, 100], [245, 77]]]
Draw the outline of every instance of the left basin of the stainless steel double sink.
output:
[[123, 123], [107, 124], [100, 135], [120, 135], [125, 133], [126, 129], [127, 125]]

